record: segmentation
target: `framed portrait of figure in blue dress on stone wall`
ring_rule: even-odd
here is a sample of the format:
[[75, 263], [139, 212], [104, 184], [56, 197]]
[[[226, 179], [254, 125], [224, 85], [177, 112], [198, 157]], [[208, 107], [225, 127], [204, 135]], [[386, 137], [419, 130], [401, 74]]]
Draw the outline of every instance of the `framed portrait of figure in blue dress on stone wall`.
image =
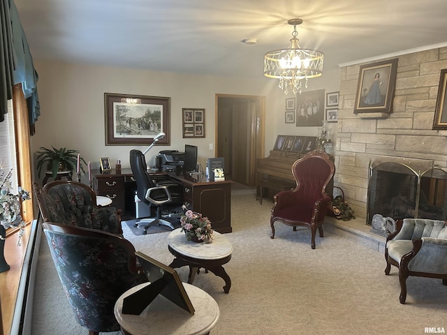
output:
[[390, 113], [396, 73], [397, 58], [360, 66], [354, 114]]

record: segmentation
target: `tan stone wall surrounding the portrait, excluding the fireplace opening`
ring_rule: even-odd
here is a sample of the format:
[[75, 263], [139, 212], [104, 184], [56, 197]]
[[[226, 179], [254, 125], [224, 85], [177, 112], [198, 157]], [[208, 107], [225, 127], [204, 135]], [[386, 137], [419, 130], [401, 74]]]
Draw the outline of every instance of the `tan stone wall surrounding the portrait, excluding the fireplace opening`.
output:
[[334, 184], [360, 218], [366, 218], [369, 160], [405, 163], [416, 171], [447, 165], [447, 131], [432, 130], [447, 47], [392, 58], [399, 60], [392, 112], [386, 118], [353, 114], [364, 64], [342, 68]]

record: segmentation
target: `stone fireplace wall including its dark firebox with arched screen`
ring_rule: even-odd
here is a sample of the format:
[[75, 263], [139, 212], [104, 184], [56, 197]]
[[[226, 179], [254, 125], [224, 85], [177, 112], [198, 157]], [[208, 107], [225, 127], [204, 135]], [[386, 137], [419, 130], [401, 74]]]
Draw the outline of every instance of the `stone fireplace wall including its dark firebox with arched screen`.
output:
[[[362, 224], [368, 223], [367, 216], [375, 214], [369, 215], [371, 211], [399, 216], [419, 211], [420, 216], [446, 207], [446, 177], [441, 177], [445, 172], [437, 175], [438, 170], [430, 169], [439, 165], [447, 171], [447, 130], [432, 129], [440, 73], [447, 68], [447, 47], [389, 58], [398, 58], [390, 114], [354, 114], [360, 66], [372, 61], [341, 65], [337, 131], [332, 132], [334, 186], [343, 189], [345, 200]], [[373, 195], [369, 194], [370, 162], [374, 162], [374, 168], [381, 163], [396, 163], [381, 165], [377, 170], [379, 177], [373, 181]], [[422, 172], [425, 173], [419, 175]], [[432, 178], [429, 174], [436, 175]], [[379, 188], [379, 184], [384, 186]], [[418, 188], [422, 193], [418, 193]], [[373, 198], [385, 200], [374, 203], [376, 207], [369, 210]], [[445, 217], [444, 210], [442, 215]]]

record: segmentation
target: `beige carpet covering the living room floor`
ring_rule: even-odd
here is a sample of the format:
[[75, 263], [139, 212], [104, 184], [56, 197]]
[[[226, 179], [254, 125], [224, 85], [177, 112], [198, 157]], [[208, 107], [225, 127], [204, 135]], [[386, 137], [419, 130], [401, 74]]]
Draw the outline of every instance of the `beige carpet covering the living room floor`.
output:
[[[293, 232], [277, 224], [270, 239], [270, 207], [256, 202], [254, 191], [236, 188], [232, 197], [234, 246], [225, 266], [232, 280], [200, 273], [194, 285], [216, 299], [218, 334], [424, 334], [425, 327], [447, 329], [447, 287], [440, 279], [409, 278], [407, 304], [399, 303], [397, 271], [385, 276], [381, 253], [325, 233], [310, 247], [310, 231]], [[137, 251], [169, 264], [169, 232], [124, 236]], [[32, 334], [87, 334], [73, 316], [42, 241], [36, 278]], [[187, 269], [178, 270], [186, 281]], [[110, 333], [118, 334], [118, 333]]]

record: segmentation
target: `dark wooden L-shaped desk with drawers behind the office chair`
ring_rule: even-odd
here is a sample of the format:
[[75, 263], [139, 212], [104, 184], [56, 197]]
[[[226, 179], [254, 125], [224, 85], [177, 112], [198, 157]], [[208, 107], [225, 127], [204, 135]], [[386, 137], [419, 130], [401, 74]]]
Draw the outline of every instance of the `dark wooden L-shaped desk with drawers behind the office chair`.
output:
[[[183, 202], [192, 206], [193, 211], [210, 218], [212, 228], [221, 233], [232, 232], [231, 228], [231, 184], [233, 181], [208, 181], [204, 175], [182, 176], [168, 174], [170, 179], [183, 186]], [[135, 218], [136, 183], [130, 168], [122, 169], [117, 174], [115, 170], [101, 173], [92, 170], [93, 189], [96, 195], [112, 200], [111, 207], [122, 209], [123, 219]]]

